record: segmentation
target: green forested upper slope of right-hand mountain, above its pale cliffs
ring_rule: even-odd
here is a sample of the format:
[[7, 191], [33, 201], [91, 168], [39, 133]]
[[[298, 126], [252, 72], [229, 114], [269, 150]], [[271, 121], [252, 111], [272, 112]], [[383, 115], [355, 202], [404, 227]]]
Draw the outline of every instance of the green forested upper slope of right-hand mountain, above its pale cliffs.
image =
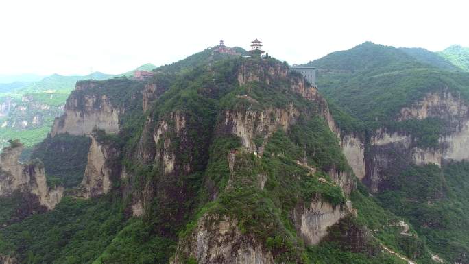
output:
[[[450, 125], [436, 119], [397, 122], [400, 110], [427, 93], [441, 93], [444, 89], [469, 101], [469, 74], [422, 64], [393, 47], [363, 43], [309, 64], [320, 68], [317, 85], [345, 132], [385, 127], [413, 136], [418, 147], [437, 147], [438, 136], [448, 133]], [[352, 67], [356, 68], [337, 71]]]

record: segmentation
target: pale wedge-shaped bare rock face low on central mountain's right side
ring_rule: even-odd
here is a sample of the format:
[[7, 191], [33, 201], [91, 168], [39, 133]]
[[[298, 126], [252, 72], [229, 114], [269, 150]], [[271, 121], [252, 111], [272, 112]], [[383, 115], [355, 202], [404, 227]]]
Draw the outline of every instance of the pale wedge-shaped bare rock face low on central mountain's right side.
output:
[[293, 222], [298, 234], [307, 245], [316, 245], [326, 235], [328, 228], [352, 212], [352, 204], [333, 206], [322, 200], [315, 200], [309, 206], [298, 206], [293, 212]]

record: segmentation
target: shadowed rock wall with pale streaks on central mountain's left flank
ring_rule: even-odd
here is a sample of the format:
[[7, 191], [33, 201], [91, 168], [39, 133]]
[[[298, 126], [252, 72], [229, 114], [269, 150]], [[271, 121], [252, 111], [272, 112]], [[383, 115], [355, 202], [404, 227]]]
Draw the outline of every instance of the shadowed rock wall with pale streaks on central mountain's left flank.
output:
[[[187, 134], [187, 118], [186, 113], [175, 111], [158, 120], [148, 117], [145, 122], [134, 158], [142, 166], [152, 164], [158, 168], [159, 183], [141, 182], [139, 191], [127, 190], [126, 195], [132, 195], [133, 215], [143, 215], [149, 202], [158, 195], [164, 196], [161, 200], [185, 199], [187, 193], [181, 191], [184, 187], [177, 186], [174, 181], [193, 171], [194, 153], [190, 149], [193, 149], [195, 139]], [[130, 173], [125, 177], [133, 176]], [[177, 194], [167, 195], [167, 192]]]

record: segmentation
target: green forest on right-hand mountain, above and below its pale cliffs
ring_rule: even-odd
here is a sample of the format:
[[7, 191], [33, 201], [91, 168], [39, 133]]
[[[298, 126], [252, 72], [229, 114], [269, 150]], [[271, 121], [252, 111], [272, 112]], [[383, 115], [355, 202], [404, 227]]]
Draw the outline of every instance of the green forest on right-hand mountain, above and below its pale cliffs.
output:
[[[458, 60], [446, 58], [453, 63], [460, 62], [459, 65], [465, 60], [464, 52], [460, 46], [444, 51], [457, 57]], [[341, 121], [337, 124], [346, 132], [353, 133], [357, 131], [354, 127], [362, 125], [361, 130], [365, 130], [366, 135], [374, 135], [378, 128], [385, 128], [388, 132], [408, 135], [412, 144], [420, 149], [436, 149], [440, 147], [439, 139], [452, 129], [450, 120], [432, 117], [398, 121], [400, 110], [421, 100], [427, 93], [442, 93], [446, 89], [453, 95], [461, 95], [466, 104], [469, 103], [469, 73], [454, 71], [446, 60], [424, 49], [395, 49], [363, 43], [347, 51], [331, 53], [309, 62], [309, 65], [319, 68], [317, 86], [332, 102], [333, 116]], [[385, 174], [389, 188], [374, 197], [384, 208], [409, 219], [429, 248], [443, 259], [457, 263], [458, 259], [464, 258], [469, 245], [466, 228], [469, 224], [468, 164], [406, 168], [403, 164], [408, 160], [396, 150], [402, 147], [401, 143], [396, 143], [397, 147], [385, 145], [382, 148], [373, 146], [370, 141], [367, 144], [370, 148], [365, 150], [368, 153], [365, 155], [379, 153], [382, 156], [378, 159], [385, 159], [392, 167], [399, 168], [398, 172]], [[386, 151], [394, 159], [382, 158]], [[373, 161], [368, 160], [368, 163], [372, 167]], [[441, 199], [430, 203], [430, 199], [422, 198], [430, 197], [429, 193], [435, 191], [438, 184], [447, 189]], [[429, 222], [432, 224], [426, 224]]]

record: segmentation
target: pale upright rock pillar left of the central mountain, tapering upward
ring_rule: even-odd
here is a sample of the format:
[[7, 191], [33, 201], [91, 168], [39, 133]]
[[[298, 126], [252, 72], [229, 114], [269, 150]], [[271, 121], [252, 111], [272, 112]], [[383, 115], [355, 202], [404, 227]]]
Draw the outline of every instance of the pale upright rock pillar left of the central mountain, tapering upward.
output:
[[112, 187], [112, 173], [118, 173], [112, 167], [112, 160], [119, 156], [119, 150], [106, 144], [99, 143], [95, 136], [91, 136], [88, 152], [88, 162], [82, 180], [81, 196], [85, 198], [106, 194]]

